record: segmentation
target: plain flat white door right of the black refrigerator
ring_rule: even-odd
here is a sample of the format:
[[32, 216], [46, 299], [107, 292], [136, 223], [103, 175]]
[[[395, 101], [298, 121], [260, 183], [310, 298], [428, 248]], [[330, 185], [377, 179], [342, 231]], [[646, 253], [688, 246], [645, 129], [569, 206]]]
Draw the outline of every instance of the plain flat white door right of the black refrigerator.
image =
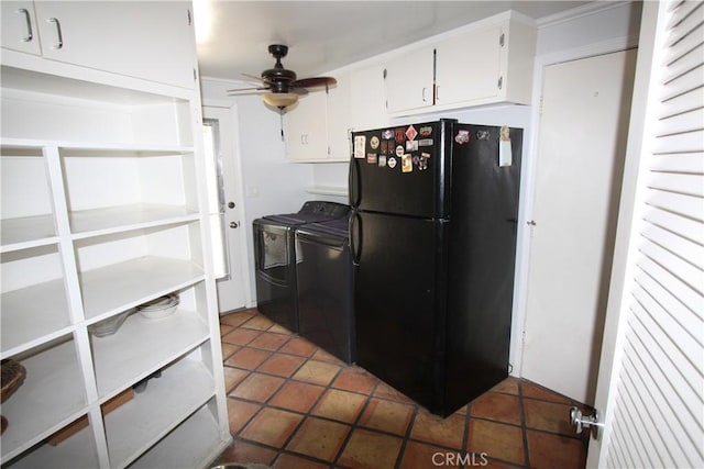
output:
[[546, 67], [521, 376], [592, 404], [635, 51]]

